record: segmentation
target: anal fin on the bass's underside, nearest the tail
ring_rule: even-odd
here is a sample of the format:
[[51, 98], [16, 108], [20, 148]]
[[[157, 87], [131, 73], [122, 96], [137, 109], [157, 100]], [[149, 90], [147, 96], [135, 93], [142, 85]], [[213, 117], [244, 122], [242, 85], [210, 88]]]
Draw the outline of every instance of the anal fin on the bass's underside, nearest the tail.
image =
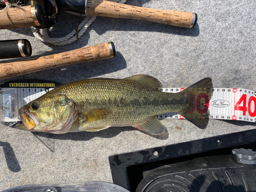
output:
[[156, 117], [143, 124], [135, 125], [135, 127], [151, 135], [161, 135], [165, 131], [165, 126]]

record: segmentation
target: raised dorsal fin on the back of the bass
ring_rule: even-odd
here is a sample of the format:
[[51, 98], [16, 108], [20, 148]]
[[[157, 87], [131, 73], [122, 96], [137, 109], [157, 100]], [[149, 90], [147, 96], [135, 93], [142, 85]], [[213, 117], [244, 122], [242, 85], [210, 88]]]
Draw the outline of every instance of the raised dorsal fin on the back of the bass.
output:
[[154, 90], [162, 88], [162, 83], [158, 79], [150, 75], [134, 75], [132, 77], [124, 78], [124, 80], [136, 81]]

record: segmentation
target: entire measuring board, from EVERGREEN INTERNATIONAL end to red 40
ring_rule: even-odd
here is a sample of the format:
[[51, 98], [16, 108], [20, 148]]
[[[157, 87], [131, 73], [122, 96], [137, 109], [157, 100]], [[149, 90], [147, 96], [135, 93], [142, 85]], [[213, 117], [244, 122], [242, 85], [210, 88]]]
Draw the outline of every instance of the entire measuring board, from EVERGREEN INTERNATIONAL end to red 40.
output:
[[[21, 121], [18, 109], [44, 95], [60, 83], [44, 80], [19, 80], [2, 84], [0, 102], [3, 104], [4, 122]], [[185, 88], [163, 88], [161, 91], [177, 93]], [[256, 122], [256, 92], [237, 88], [214, 88], [209, 102], [210, 119]], [[158, 119], [185, 119], [178, 113], [157, 115]]]

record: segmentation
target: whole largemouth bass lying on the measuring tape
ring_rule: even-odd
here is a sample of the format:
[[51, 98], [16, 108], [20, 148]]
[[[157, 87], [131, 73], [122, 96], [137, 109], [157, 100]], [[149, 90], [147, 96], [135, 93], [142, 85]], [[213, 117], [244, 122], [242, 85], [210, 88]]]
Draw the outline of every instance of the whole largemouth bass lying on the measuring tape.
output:
[[212, 96], [207, 77], [179, 93], [160, 91], [148, 75], [124, 79], [92, 78], [63, 84], [19, 109], [18, 129], [63, 134], [100, 131], [110, 126], [135, 126], [160, 135], [165, 126], [156, 115], [177, 112], [205, 129]]

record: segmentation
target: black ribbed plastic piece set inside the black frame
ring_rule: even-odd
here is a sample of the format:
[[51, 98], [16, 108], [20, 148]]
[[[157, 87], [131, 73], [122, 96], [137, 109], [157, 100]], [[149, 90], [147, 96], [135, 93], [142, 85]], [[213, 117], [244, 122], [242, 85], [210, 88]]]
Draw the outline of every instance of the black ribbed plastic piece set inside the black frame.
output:
[[143, 175], [136, 192], [256, 191], [256, 165], [235, 163], [231, 155], [164, 165]]

